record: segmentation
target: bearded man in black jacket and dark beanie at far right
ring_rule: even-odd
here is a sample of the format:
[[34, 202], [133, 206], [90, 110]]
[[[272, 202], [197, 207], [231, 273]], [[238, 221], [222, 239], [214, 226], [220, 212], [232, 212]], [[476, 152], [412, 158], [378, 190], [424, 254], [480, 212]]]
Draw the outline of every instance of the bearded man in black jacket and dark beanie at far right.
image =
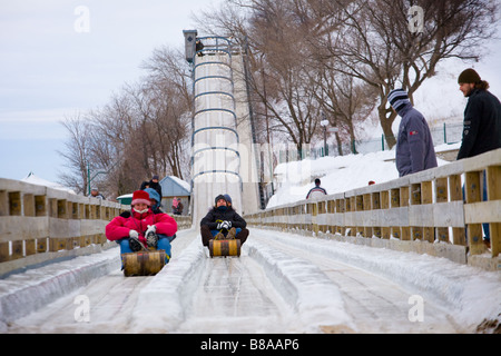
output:
[[464, 70], [458, 83], [464, 97], [469, 98], [458, 159], [501, 148], [501, 103], [489, 92], [489, 83], [481, 80], [473, 69]]

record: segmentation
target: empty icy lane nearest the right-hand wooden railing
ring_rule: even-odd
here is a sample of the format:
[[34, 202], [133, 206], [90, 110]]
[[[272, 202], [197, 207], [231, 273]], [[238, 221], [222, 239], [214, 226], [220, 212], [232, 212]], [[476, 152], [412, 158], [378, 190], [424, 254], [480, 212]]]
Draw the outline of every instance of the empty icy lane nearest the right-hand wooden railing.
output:
[[[269, 234], [269, 233], [268, 233]], [[273, 235], [273, 233], [272, 233]], [[357, 333], [465, 333], [453, 320], [449, 310], [439, 303], [426, 301], [425, 318], [422, 323], [411, 322], [410, 297], [422, 293], [399, 285], [386, 277], [364, 270], [327, 257], [320, 253], [321, 240], [312, 237], [295, 238], [295, 245], [284, 238], [256, 237], [257, 244], [303, 258], [318, 267], [340, 289], [346, 313], [353, 319]], [[306, 245], [314, 245], [311, 249]], [[315, 251], [316, 249], [316, 251]], [[325, 251], [325, 250], [324, 250]], [[361, 256], [360, 258], [363, 258]], [[321, 327], [324, 333], [338, 332]]]

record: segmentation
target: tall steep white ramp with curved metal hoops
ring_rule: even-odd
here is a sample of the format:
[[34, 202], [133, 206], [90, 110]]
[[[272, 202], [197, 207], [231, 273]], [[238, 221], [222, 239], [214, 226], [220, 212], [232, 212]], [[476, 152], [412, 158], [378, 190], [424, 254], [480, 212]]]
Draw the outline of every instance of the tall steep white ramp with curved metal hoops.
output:
[[232, 197], [242, 214], [240, 157], [235, 113], [232, 43], [226, 38], [197, 38], [194, 63], [193, 218], [200, 219], [219, 194]]

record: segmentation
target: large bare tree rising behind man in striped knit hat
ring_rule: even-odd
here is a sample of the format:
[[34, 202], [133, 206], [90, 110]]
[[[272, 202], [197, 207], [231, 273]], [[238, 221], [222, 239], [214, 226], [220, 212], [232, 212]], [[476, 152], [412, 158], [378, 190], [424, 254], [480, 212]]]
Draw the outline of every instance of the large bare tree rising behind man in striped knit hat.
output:
[[[421, 29], [410, 27], [412, 6], [423, 11]], [[387, 105], [389, 92], [402, 87], [412, 101], [443, 59], [478, 60], [480, 44], [495, 30], [498, 8], [493, 0], [352, 1], [343, 7], [344, 26], [317, 49], [335, 58], [336, 70], [377, 90], [381, 127], [393, 147], [396, 113]]]

